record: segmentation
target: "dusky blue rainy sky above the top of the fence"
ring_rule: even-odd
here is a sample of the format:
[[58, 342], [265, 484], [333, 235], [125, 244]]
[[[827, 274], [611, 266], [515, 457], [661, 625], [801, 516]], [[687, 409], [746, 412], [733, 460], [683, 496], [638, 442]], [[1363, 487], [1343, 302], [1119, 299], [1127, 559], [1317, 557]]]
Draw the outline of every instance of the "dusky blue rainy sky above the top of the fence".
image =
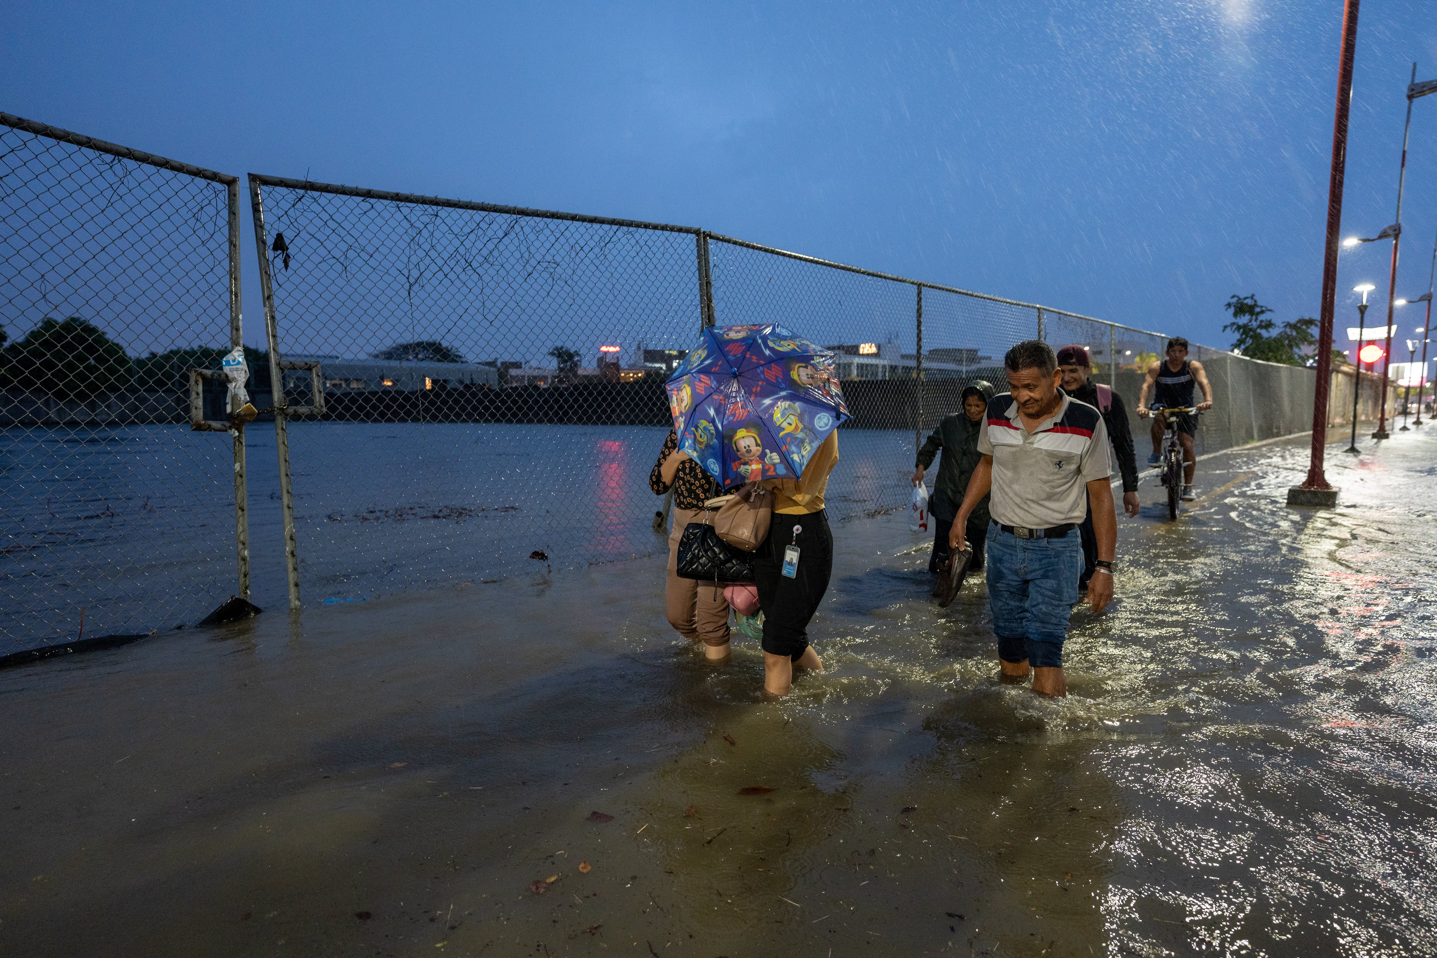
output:
[[[1232, 293], [1318, 313], [1341, 16], [11, 1], [0, 109], [226, 172], [701, 225], [1226, 346]], [[1431, 4], [1368, 0], [1345, 234], [1392, 220], [1413, 60], [1437, 78]], [[1415, 294], [1437, 96], [1414, 108], [1404, 223]], [[1385, 299], [1388, 250], [1344, 254], [1339, 336], [1352, 284]]]

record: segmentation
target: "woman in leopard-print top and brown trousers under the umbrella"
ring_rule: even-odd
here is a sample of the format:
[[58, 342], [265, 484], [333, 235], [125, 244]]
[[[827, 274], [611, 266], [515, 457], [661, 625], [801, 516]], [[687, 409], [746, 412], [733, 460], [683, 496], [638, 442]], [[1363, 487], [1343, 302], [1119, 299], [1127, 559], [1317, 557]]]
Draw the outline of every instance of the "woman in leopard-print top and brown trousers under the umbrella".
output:
[[729, 602], [723, 596], [723, 587], [678, 577], [678, 540], [684, 537], [684, 526], [701, 520], [704, 501], [718, 494], [718, 484], [701, 465], [678, 451], [678, 437], [670, 429], [658, 461], [648, 474], [648, 487], [655, 496], [674, 490], [668, 580], [664, 586], [668, 623], [690, 642], [703, 641], [704, 655], [710, 659], [723, 659], [729, 655]]

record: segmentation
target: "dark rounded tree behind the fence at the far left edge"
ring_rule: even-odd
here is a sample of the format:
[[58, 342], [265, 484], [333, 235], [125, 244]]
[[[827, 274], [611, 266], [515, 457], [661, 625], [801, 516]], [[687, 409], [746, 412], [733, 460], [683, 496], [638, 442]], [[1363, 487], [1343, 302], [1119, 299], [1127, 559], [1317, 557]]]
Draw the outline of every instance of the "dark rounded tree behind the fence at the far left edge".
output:
[[134, 365], [124, 346], [95, 323], [45, 317], [24, 339], [6, 348], [7, 378], [22, 389], [56, 399], [89, 399], [129, 385]]

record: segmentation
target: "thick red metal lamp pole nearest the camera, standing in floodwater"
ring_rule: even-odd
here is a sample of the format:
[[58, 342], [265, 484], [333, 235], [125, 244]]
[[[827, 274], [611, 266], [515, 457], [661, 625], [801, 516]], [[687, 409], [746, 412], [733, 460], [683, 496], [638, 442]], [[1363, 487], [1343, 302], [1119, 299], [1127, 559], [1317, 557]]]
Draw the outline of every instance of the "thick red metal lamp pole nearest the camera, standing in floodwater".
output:
[[[1359, 0], [1346, 0], [1342, 14], [1342, 59], [1338, 66], [1338, 106], [1332, 124], [1332, 177], [1328, 181], [1328, 247], [1322, 261], [1322, 313], [1318, 332], [1318, 382], [1312, 396], [1312, 464], [1303, 488], [1332, 488], [1323, 474], [1328, 442], [1328, 389], [1332, 385], [1332, 319], [1336, 312], [1338, 234], [1342, 231], [1342, 180], [1346, 175], [1348, 111], [1352, 106], [1352, 60], [1357, 55]], [[1361, 346], [1361, 343], [1358, 343]]]

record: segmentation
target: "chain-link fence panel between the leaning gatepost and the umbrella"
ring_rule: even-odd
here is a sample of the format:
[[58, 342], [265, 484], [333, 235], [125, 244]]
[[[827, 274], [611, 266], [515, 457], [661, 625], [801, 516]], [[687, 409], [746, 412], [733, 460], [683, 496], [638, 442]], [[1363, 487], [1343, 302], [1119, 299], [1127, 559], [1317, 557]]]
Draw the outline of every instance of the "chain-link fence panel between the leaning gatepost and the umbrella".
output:
[[698, 230], [249, 182], [293, 608], [667, 547]]

